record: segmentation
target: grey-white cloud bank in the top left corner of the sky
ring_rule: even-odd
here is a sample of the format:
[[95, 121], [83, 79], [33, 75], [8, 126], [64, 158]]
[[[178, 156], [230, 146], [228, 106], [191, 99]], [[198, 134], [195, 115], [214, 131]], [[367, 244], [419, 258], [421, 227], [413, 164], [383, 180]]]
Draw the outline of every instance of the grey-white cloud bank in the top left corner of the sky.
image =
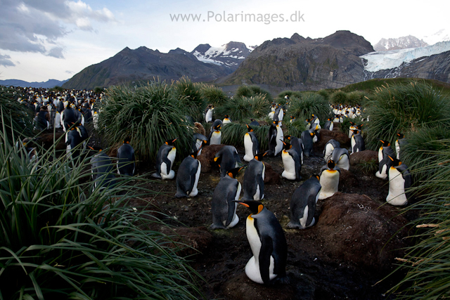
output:
[[57, 41], [68, 27], [93, 31], [92, 22], [116, 22], [108, 8], [94, 10], [81, 0], [1, 0], [1, 6], [0, 49], [55, 58], [64, 58]]

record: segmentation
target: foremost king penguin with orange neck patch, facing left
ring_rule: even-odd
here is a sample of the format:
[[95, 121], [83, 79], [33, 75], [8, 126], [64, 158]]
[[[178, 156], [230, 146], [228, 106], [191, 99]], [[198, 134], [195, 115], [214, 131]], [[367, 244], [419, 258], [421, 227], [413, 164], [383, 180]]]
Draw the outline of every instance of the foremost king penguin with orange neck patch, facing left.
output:
[[258, 201], [238, 201], [248, 207], [252, 214], [247, 217], [246, 233], [253, 256], [245, 265], [250, 280], [270, 285], [275, 278], [286, 275], [288, 244], [274, 213]]

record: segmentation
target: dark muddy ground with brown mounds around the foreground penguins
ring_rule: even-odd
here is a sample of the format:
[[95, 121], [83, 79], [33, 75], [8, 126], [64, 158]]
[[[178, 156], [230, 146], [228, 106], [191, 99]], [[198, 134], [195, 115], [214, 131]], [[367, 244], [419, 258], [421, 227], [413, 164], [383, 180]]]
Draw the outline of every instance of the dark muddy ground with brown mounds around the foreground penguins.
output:
[[[349, 145], [338, 129], [334, 134], [323, 134], [314, 157], [304, 158], [302, 181], [319, 173], [324, 164], [323, 145], [336, 134], [342, 145]], [[207, 155], [207, 147], [202, 155]], [[242, 159], [244, 150], [238, 148], [238, 152]], [[385, 204], [387, 181], [364, 173], [361, 159], [376, 159], [376, 152], [366, 151], [359, 159], [352, 159], [350, 171], [342, 171], [340, 193], [317, 203], [315, 226], [285, 229], [288, 278], [272, 286], [259, 285], [245, 275], [245, 264], [252, 256], [245, 235], [248, 209], [238, 206], [240, 221], [236, 227], [210, 230], [218, 168], [200, 175], [197, 197], [176, 199], [175, 180], [155, 181], [148, 188], [160, 194], [146, 201], [167, 214], [165, 221], [177, 227], [184, 242], [200, 251], [191, 257], [192, 266], [205, 278], [201, 285], [207, 299], [394, 299], [387, 291], [402, 274], [379, 281], [394, 270], [395, 257], [402, 257], [400, 248], [407, 245], [407, 229], [400, 229], [414, 216], [397, 216], [399, 209]], [[270, 164], [274, 174], [265, 185], [262, 202], [284, 228], [290, 219], [290, 199], [302, 181], [281, 178], [283, 162], [279, 156], [264, 158], [264, 163]], [[144, 171], [152, 170], [139, 169]], [[242, 177], [240, 174], [238, 179]]]

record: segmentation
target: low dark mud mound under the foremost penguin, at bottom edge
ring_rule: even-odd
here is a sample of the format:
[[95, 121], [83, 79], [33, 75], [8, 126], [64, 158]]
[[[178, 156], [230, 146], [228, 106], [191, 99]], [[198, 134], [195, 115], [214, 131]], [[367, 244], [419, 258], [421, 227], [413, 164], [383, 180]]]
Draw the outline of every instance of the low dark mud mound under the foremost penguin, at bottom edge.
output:
[[273, 300], [290, 300], [298, 299], [295, 287], [291, 285], [259, 285], [252, 282], [242, 270], [238, 274], [225, 282], [222, 287], [227, 299], [236, 300], [255, 300], [255, 299], [273, 299]]

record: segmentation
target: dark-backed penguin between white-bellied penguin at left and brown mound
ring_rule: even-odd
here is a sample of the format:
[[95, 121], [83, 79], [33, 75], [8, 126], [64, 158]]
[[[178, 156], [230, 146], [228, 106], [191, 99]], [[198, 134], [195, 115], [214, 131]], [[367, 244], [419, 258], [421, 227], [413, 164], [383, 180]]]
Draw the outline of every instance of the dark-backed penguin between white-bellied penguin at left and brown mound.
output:
[[200, 150], [201, 148], [198, 151], [191, 152], [191, 155], [181, 162], [176, 174], [176, 198], [195, 197], [198, 194], [198, 178], [200, 178], [202, 169], [202, 164], [197, 159]]

